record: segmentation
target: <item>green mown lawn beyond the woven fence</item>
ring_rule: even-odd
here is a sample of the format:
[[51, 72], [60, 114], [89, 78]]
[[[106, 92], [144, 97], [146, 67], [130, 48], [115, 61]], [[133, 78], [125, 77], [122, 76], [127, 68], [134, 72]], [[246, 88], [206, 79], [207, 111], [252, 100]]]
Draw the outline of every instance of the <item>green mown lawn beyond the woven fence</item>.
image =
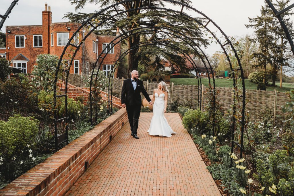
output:
[[[208, 78], [201, 78], [202, 84], [204, 84], [204, 86], [208, 86]], [[233, 79], [215, 79], [216, 81], [216, 87], [233, 87]], [[197, 79], [196, 78], [171, 78], [171, 82], [174, 83], [174, 85], [196, 85], [198, 84]], [[212, 83], [212, 79], [211, 79], [211, 83]], [[285, 91], [289, 91], [290, 89], [294, 88], [294, 84], [290, 84], [290, 83], [283, 83], [283, 88], [280, 88], [280, 83], [276, 83], [277, 86], [279, 87], [273, 87], [273, 86], [267, 86], [266, 90], [267, 91], [273, 91], [274, 89], [277, 89], [280, 92], [285, 92]], [[245, 79], [245, 88], [246, 89], [255, 89], [257, 90], [257, 84], [252, 83], [250, 81], [248, 81], [247, 79]]]

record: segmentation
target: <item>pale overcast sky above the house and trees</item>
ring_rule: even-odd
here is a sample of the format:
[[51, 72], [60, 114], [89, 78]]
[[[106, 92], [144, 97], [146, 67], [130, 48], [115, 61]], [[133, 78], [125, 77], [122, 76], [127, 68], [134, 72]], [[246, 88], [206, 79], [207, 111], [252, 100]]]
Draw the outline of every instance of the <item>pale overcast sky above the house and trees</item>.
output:
[[[41, 25], [44, 4], [47, 1], [51, 5], [52, 22], [66, 22], [62, 19], [67, 12], [74, 12], [74, 5], [68, 0], [19, 0], [5, 23], [2, 31], [5, 32], [5, 25]], [[242, 36], [252, 34], [252, 29], [245, 28], [248, 24], [248, 17], [255, 17], [259, 14], [263, 0], [191, 0], [194, 8], [202, 11], [223, 29], [228, 36]], [[12, 0], [0, 0], [0, 14], [4, 14], [10, 6]], [[290, 3], [294, 3], [291, 0]], [[92, 12], [100, 10], [98, 5], [88, 4], [81, 12]], [[181, 10], [180, 7], [175, 9]], [[192, 16], [194, 12], [188, 12]], [[212, 29], [213, 31], [215, 29]], [[209, 46], [205, 51], [213, 54], [220, 50], [215, 44]]]

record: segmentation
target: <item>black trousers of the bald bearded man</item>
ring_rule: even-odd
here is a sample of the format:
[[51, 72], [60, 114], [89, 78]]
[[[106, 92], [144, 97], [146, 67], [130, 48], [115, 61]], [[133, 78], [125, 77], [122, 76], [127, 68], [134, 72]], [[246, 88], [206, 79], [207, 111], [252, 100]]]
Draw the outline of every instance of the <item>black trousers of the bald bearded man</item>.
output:
[[131, 132], [137, 134], [141, 105], [126, 105]]

